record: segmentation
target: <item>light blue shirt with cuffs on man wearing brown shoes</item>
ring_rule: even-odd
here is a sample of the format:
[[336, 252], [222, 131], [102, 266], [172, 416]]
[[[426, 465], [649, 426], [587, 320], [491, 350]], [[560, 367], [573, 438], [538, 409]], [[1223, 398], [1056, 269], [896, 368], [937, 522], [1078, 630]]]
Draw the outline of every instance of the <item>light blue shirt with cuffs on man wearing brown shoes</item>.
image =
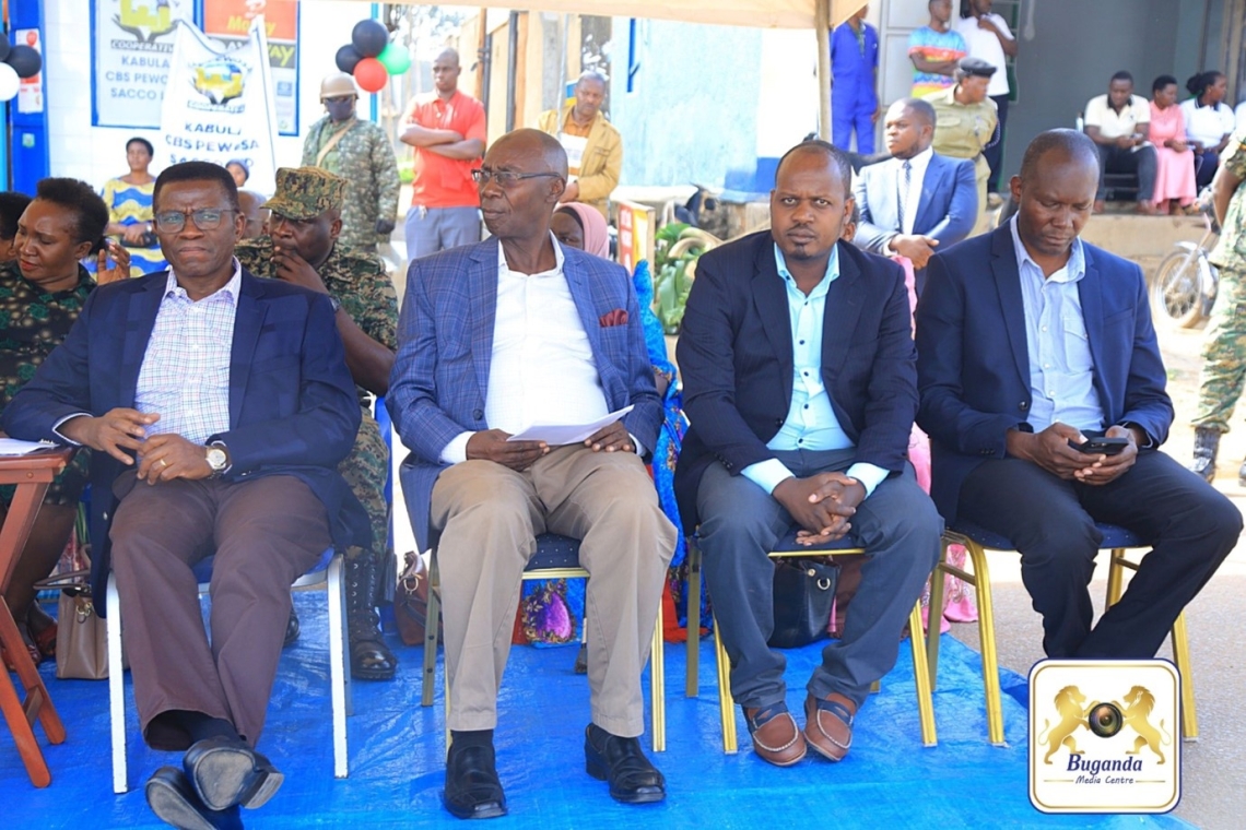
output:
[[[826, 292], [830, 291], [831, 282], [840, 277], [839, 250], [831, 249], [826, 275], [809, 296], [796, 287], [796, 280], [787, 270], [787, 263], [778, 245], [775, 265], [787, 290], [787, 311], [791, 316], [792, 392], [787, 418], [766, 447], [776, 452], [855, 447], [840, 426], [840, 419], [835, 417], [831, 396], [822, 385], [822, 319], [826, 312]], [[778, 458], [749, 464], [740, 474], [766, 493], [774, 493], [780, 482], [794, 477]], [[847, 475], [865, 485], [868, 498], [882, 479], [887, 478], [887, 470], [858, 462], [849, 468]]]

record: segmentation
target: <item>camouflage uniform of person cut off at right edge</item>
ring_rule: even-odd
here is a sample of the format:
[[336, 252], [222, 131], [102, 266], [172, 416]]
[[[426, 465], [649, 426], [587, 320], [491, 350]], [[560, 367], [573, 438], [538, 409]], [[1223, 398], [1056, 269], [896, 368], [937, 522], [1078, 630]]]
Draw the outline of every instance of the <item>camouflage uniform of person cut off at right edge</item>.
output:
[[[1229, 139], [1220, 161], [1229, 172], [1246, 179], [1246, 131]], [[1194, 426], [1229, 432], [1229, 419], [1246, 382], [1246, 183], [1229, 203], [1220, 241], [1210, 260], [1220, 270], [1220, 287], [1211, 309], [1202, 346], [1199, 407]]]

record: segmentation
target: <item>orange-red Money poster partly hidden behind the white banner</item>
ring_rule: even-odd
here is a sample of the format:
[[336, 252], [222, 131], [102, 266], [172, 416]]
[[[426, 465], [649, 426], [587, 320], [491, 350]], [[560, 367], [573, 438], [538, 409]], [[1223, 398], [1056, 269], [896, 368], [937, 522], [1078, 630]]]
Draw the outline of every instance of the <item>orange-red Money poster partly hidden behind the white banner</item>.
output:
[[228, 49], [247, 42], [254, 19], [263, 16], [273, 75], [273, 106], [282, 136], [299, 134], [299, 4], [297, 0], [203, 0], [203, 34]]

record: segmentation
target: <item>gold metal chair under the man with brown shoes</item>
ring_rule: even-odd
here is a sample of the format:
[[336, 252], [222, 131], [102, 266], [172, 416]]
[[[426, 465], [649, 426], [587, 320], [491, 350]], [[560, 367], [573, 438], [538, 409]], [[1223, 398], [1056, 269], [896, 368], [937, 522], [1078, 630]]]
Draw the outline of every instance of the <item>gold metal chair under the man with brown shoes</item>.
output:
[[[769, 554], [770, 559], [791, 559], [810, 556], [826, 556], [830, 554], [849, 555], [865, 554], [863, 548], [852, 548], [847, 540], [832, 543], [830, 545], [805, 548], [796, 545], [796, 531], [792, 529]], [[687, 697], [698, 694], [699, 671], [699, 632], [700, 632], [700, 584], [701, 584], [701, 553], [693, 536], [688, 539], [688, 683], [684, 689]], [[934, 607], [933, 605], [931, 607]], [[933, 747], [938, 743], [938, 733], [934, 728], [934, 704], [931, 698], [931, 684], [928, 668], [926, 666], [926, 645], [922, 633], [922, 604], [921, 600], [913, 605], [912, 613], [908, 615], [908, 630], [913, 648], [913, 681], [917, 687], [917, 716], [922, 727], [922, 745]], [[898, 632], [897, 632], [898, 633]], [[718, 709], [723, 725], [723, 752], [735, 754], [738, 742], [735, 733], [735, 701], [731, 698], [731, 661], [726, 656], [726, 648], [718, 635], [718, 625], [714, 625], [714, 652], [718, 666]], [[878, 691], [878, 683], [871, 689]]]

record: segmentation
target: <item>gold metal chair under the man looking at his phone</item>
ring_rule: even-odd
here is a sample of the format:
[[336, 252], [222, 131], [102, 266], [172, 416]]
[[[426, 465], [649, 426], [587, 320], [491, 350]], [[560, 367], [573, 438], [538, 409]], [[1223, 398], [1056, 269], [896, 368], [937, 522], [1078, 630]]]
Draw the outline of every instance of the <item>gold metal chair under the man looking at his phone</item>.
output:
[[[1095, 525], [1103, 533], [1099, 550], [1111, 551], [1111, 565], [1108, 569], [1108, 605], [1115, 605], [1124, 592], [1124, 570], [1138, 570], [1125, 551], [1148, 548], [1146, 543], [1133, 533], [1099, 523]], [[973, 565], [973, 572], [947, 562], [948, 545], [964, 545]], [[978, 636], [982, 641], [982, 683], [987, 699], [987, 737], [992, 744], [1003, 745], [1004, 720], [1003, 701], [999, 692], [999, 655], [996, 651], [994, 607], [991, 601], [991, 571], [987, 566], [988, 550], [1007, 550], [1015, 553], [1012, 541], [983, 528], [959, 523], [954, 530], [943, 531], [943, 553], [934, 569], [936, 575], [951, 574], [972, 585], [978, 601]], [[934, 579], [931, 585], [931, 607], [942, 607], [943, 580]], [[930, 666], [930, 686], [936, 688], [938, 673], [938, 637], [926, 641], [927, 664]], [[1190, 645], [1185, 630], [1185, 613], [1172, 623], [1172, 655], [1177, 672], [1181, 676], [1181, 734], [1186, 740], [1197, 740], [1199, 717], [1194, 706], [1194, 676], [1190, 672]]]

